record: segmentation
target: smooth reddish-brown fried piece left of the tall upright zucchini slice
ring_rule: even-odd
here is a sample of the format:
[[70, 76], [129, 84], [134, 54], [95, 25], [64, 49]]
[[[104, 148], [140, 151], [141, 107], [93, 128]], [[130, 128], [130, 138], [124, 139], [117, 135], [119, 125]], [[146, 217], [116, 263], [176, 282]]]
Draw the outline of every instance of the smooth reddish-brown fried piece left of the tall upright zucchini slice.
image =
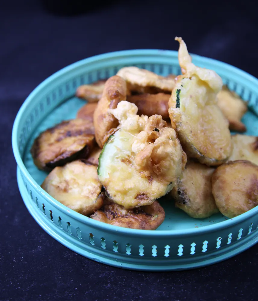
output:
[[138, 115], [161, 115], [163, 119], [169, 119], [168, 101], [170, 95], [165, 93], [158, 94], [139, 94], [127, 96], [126, 100], [136, 104]]

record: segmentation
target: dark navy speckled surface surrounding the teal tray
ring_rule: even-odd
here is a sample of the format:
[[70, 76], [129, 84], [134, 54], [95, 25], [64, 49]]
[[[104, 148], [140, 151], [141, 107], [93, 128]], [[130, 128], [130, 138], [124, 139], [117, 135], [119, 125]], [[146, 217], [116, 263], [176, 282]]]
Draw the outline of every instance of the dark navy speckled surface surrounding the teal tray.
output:
[[11, 149], [15, 115], [36, 85], [70, 63], [123, 49], [176, 50], [178, 35], [189, 51], [258, 76], [255, 9], [232, 2], [204, 11], [198, 2], [193, 10], [196, 5], [116, 1], [72, 17], [50, 14], [32, 0], [0, 8], [1, 301], [257, 300], [258, 245], [192, 271], [121, 270], [77, 255], [48, 236], [17, 188]]

